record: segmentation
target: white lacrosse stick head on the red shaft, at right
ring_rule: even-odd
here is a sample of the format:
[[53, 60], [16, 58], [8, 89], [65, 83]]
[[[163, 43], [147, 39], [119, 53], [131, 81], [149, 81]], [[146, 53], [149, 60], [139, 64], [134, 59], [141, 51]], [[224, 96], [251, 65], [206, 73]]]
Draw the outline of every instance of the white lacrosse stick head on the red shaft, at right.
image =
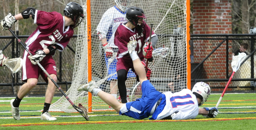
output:
[[237, 56], [232, 57], [232, 62], [231, 62], [231, 67], [234, 72], [237, 72], [239, 67], [241, 66], [241, 63], [244, 61], [246, 58], [246, 54], [244, 52], [238, 53]]

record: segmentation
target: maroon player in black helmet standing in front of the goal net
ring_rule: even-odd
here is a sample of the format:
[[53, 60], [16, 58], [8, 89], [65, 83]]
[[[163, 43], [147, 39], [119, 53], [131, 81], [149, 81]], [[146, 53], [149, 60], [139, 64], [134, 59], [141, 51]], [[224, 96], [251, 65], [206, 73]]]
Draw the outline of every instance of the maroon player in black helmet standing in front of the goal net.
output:
[[[146, 24], [146, 16], [144, 11], [138, 7], [129, 7], [126, 10], [127, 22], [118, 26], [114, 44], [118, 47], [117, 52], [117, 86], [122, 103], [127, 103], [126, 85], [127, 72], [131, 68], [135, 72], [132, 60], [128, 54], [127, 43], [130, 41], [137, 42], [136, 51], [137, 54], [145, 65], [144, 58], [152, 61], [152, 51], [158, 40], [157, 35], [152, 31], [150, 35], [150, 27]], [[149, 37], [151, 37], [151, 46], [148, 45]], [[136, 73], [136, 72], [135, 72]], [[147, 68], [147, 77], [149, 79], [151, 70]], [[137, 75], [137, 74], [136, 74]], [[138, 76], [137, 76], [138, 80]]]

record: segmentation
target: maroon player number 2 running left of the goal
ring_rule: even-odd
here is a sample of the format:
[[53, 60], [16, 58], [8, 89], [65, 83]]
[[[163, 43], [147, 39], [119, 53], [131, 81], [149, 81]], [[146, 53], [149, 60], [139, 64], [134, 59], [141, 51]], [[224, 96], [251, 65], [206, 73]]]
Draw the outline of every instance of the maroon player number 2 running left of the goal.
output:
[[30, 17], [34, 19], [34, 24], [37, 24], [36, 30], [25, 42], [27, 49], [33, 54], [33, 56], [30, 56], [26, 50], [24, 51], [22, 81], [26, 83], [22, 85], [17, 97], [11, 100], [12, 115], [15, 120], [20, 120], [19, 104], [24, 96], [36, 86], [39, 75], [48, 83], [41, 120], [57, 120], [48, 113], [55, 93], [55, 85], [34, 60], [38, 60], [54, 81], [57, 82], [56, 64], [53, 60], [53, 55], [55, 50], [63, 51], [67, 46], [73, 36], [73, 29], [84, 18], [83, 13], [81, 5], [70, 2], [64, 9], [64, 16], [57, 12], [45, 12], [29, 7], [15, 16], [9, 13], [1, 20], [3, 30], [11, 28], [17, 20]]

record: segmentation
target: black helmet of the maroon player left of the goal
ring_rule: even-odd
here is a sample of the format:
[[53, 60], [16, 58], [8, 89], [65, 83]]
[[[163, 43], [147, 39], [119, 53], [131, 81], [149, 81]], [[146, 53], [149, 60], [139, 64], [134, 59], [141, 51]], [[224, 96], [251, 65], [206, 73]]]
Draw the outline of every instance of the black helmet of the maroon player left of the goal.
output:
[[84, 9], [76, 2], [69, 2], [64, 11], [64, 15], [71, 18], [74, 21], [72, 28], [77, 27], [84, 19]]

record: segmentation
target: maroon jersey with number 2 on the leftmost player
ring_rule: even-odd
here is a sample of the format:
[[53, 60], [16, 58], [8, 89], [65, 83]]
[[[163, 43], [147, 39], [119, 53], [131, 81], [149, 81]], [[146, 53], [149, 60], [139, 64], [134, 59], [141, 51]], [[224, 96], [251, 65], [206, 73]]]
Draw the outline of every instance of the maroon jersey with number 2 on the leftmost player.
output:
[[64, 16], [58, 12], [36, 10], [34, 24], [37, 28], [25, 42], [28, 50], [34, 55], [38, 49], [57, 44], [57, 49], [62, 51], [74, 33], [71, 26], [65, 29], [64, 21]]

